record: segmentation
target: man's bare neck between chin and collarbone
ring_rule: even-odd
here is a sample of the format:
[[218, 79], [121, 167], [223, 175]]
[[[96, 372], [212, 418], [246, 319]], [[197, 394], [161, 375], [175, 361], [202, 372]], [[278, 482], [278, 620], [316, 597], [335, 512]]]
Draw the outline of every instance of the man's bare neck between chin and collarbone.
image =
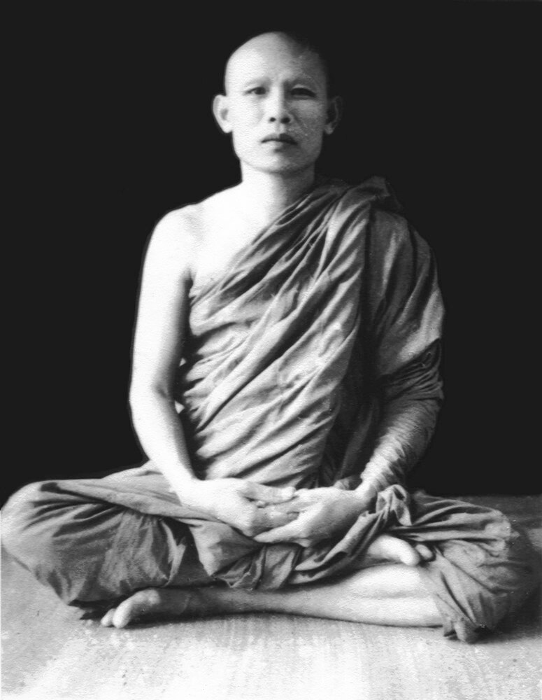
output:
[[243, 165], [243, 179], [238, 193], [243, 208], [263, 222], [271, 221], [281, 211], [311, 189], [315, 180], [314, 168], [301, 173], [262, 173]]

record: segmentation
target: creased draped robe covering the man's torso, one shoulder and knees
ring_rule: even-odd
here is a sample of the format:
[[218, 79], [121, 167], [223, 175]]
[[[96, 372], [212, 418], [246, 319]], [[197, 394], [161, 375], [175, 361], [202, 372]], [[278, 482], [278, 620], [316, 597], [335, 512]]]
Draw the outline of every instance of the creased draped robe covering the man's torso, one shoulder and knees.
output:
[[357, 486], [387, 416], [416, 407], [416, 435], [373, 510], [312, 547], [261, 545], [182, 505], [147, 463], [25, 487], [6, 505], [6, 547], [85, 607], [150, 586], [280, 589], [345, 575], [396, 533], [432, 549], [420, 571], [445, 634], [473, 640], [525, 601], [539, 562], [503, 514], [402, 483], [441, 402], [442, 316], [432, 253], [385, 183], [319, 181], [230, 269], [194, 280], [175, 396], [200, 478], [309, 489]]

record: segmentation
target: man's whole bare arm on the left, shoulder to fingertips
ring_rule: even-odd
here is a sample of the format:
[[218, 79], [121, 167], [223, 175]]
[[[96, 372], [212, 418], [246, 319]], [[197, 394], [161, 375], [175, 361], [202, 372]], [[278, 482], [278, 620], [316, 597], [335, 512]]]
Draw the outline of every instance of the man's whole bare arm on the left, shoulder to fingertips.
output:
[[256, 501], [283, 503], [292, 498], [294, 489], [274, 489], [243, 479], [197, 479], [173, 400], [199, 244], [186, 210], [168, 214], [152, 235], [143, 267], [134, 337], [132, 418], [145, 453], [162, 471], [181, 503], [254, 535], [293, 517], [269, 507], [258, 508]]

